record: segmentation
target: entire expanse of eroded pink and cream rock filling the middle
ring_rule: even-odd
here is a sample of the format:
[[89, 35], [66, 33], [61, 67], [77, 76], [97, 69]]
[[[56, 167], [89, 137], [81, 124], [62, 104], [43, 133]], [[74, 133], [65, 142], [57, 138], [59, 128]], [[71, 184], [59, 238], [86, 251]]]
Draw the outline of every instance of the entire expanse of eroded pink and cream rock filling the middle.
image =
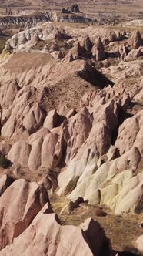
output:
[[[58, 185], [58, 194], [68, 194], [71, 200], [81, 195], [89, 204], [106, 204], [117, 214], [135, 211], [142, 196], [138, 171], [143, 156], [140, 35], [136, 32], [128, 45], [128, 39], [111, 42], [124, 39], [120, 31], [66, 29], [71, 37], [76, 34], [75, 39], [68, 40], [63, 29], [45, 24], [8, 40], [15, 54], [6, 60], [5, 56], [1, 65], [0, 153], [14, 163], [10, 172], [15, 163], [33, 172], [32, 177], [52, 171], [55, 177], [48, 173], [41, 184], [48, 190]], [[91, 56], [91, 42], [98, 36], [92, 52], [102, 62]], [[103, 39], [105, 45], [110, 42], [108, 47]], [[31, 51], [40, 40], [46, 42], [46, 54], [45, 49]], [[66, 48], [62, 61], [51, 55], [56, 46]], [[67, 49], [71, 50], [67, 53]], [[115, 56], [105, 60], [108, 49]]]

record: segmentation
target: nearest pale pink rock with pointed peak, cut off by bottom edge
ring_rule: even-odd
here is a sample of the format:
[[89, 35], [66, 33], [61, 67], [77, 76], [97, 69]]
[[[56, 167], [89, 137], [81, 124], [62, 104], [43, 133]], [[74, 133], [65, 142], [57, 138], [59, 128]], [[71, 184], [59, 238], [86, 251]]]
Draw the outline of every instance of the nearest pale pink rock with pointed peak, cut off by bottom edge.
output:
[[[100, 237], [100, 238], [99, 238]], [[0, 252], [17, 255], [107, 255], [111, 247], [97, 221], [88, 219], [81, 227], [61, 226], [58, 216], [45, 206], [26, 231]]]

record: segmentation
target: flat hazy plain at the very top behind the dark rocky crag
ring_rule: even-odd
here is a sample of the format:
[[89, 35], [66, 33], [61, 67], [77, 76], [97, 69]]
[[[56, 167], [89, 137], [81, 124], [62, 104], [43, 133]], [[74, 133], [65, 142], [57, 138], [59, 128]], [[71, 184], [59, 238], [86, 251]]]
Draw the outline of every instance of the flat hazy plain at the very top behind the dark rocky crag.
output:
[[12, 13], [25, 10], [36, 10], [40, 12], [61, 12], [62, 8], [70, 8], [78, 4], [81, 13], [90, 19], [111, 21], [130, 21], [131, 19], [142, 19], [142, 0], [86, 0], [86, 1], [48, 1], [48, 0], [2, 0], [0, 12], [5, 15], [5, 9], [11, 9]]

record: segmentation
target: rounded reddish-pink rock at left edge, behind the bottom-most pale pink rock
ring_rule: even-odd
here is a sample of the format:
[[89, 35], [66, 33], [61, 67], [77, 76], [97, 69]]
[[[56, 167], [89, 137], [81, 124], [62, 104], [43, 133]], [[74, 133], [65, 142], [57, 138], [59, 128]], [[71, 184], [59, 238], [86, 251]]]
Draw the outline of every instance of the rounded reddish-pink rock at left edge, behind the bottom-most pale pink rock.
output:
[[43, 186], [35, 182], [16, 180], [0, 197], [0, 249], [12, 244], [48, 202]]

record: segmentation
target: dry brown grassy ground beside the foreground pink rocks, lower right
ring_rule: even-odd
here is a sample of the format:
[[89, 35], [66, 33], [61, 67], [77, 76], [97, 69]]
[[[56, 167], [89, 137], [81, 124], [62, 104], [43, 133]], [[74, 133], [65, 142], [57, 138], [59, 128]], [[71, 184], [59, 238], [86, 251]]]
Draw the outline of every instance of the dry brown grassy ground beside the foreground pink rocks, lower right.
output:
[[88, 217], [92, 217], [101, 224], [101, 227], [104, 228], [105, 233], [107, 237], [110, 238], [111, 245], [115, 251], [122, 251], [125, 249], [128, 251], [137, 251], [133, 247], [132, 241], [142, 234], [141, 227], [139, 227], [142, 220], [141, 215], [116, 216], [107, 207], [103, 207], [107, 215], [100, 216], [100, 212], [98, 214], [97, 211], [97, 209], [100, 208], [100, 205], [93, 207], [88, 204], [81, 204], [81, 206], [76, 208], [71, 214], [60, 214], [62, 207], [67, 204], [66, 198], [52, 195], [50, 196], [50, 201], [53, 211], [58, 214], [62, 224], [78, 226]]

